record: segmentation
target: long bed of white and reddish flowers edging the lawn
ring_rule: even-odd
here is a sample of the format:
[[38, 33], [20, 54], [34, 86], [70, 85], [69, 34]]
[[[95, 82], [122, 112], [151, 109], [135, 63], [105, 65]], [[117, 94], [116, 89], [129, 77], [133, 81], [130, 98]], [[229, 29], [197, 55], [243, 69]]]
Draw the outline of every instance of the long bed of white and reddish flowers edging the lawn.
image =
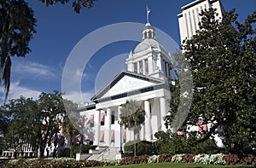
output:
[[215, 165], [256, 165], [256, 157], [252, 154], [238, 156], [236, 154], [161, 154], [161, 155], [142, 155], [127, 157], [121, 160], [80, 160], [70, 158], [58, 159], [11, 159], [3, 163], [0, 167], [95, 167], [108, 165], [132, 165], [132, 164], [151, 164], [162, 162], [182, 162], [195, 164], [215, 164]]

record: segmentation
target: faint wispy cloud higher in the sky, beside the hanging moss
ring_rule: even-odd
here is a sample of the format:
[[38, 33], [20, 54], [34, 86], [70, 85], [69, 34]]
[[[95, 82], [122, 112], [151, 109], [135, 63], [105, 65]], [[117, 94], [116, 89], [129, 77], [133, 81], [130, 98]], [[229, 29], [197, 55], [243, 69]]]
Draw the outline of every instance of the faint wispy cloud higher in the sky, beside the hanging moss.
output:
[[55, 78], [55, 71], [51, 67], [33, 61], [13, 61], [12, 71], [23, 77]]

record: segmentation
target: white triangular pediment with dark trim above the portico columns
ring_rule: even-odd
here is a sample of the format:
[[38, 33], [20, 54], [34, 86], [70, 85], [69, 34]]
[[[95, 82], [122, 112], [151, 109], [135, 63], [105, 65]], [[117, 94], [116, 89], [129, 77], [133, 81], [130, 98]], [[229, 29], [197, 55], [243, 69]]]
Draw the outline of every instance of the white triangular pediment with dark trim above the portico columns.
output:
[[135, 72], [119, 72], [96, 96], [92, 101], [110, 96], [116, 96], [134, 90], [141, 90], [150, 86], [162, 84], [164, 81], [157, 78], [150, 78]]

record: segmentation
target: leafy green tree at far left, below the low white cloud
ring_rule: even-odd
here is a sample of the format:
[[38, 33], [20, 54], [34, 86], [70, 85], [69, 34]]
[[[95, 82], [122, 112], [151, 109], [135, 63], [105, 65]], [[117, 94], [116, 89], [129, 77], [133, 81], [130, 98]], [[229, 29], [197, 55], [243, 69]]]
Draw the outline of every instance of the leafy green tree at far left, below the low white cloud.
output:
[[5, 119], [4, 148], [17, 151], [38, 150], [41, 121], [38, 113], [38, 103], [32, 98], [20, 96], [10, 100], [1, 108], [2, 118]]

